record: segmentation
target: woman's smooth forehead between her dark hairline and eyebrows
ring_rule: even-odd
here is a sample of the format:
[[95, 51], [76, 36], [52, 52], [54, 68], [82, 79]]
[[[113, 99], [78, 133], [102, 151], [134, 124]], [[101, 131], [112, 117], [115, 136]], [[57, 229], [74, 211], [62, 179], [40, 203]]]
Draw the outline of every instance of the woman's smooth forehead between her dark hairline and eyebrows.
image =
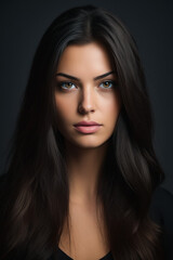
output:
[[93, 77], [111, 69], [110, 56], [106, 48], [97, 42], [68, 46], [57, 65], [58, 73], [92, 75]]

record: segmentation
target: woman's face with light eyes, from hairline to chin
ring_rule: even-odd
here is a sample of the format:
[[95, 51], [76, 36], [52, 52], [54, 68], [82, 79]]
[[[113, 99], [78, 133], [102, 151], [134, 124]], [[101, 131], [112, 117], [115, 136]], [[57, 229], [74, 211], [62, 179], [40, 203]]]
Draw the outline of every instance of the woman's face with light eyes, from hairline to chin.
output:
[[[57, 129], [67, 142], [91, 148], [112, 134], [120, 112], [117, 76], [98, 43], [68, 46], [56, 70]], [[95, 121], [99, 126], [78, 126]], [[81, 123], [82, 125], [82, 123]]]

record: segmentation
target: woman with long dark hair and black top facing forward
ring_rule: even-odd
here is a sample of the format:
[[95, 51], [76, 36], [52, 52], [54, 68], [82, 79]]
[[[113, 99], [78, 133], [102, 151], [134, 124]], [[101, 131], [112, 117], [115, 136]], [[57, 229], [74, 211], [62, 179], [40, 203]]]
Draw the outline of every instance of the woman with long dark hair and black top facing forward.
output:
[[37, 49], [1, 192], [1, 259], [163, 259], [149, 217], [164, 173], [137, 48], [93, 5]]

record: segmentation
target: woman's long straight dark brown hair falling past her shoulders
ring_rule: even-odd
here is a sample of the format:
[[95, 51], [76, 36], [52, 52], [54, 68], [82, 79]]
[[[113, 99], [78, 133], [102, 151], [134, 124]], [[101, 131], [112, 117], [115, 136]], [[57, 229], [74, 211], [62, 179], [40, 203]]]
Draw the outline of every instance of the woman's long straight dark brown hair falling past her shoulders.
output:
[[110, 54], [122, 100], [97, 185], [110, 249], [119, 260], [160, 259], [161, 232], [148, 209], [164, 173], [152, 146], [154, 119], [137, 47], [119, 18], [93, 5], [61, 14], [37, 49], [1, 195], [1, 259], [45, 260], [57, 250], [69, 187], [54, 75], [67, 46], [93, 41]]

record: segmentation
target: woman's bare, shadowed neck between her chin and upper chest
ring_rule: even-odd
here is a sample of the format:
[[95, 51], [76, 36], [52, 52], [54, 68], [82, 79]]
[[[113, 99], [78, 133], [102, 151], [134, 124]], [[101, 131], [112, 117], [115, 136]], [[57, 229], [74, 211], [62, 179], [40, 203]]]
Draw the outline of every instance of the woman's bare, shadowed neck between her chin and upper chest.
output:
[[103, 168], [108, 144], [82, 148], [66, 142], [66, 161], [70, 200], [95, 202], [97, 179]]

